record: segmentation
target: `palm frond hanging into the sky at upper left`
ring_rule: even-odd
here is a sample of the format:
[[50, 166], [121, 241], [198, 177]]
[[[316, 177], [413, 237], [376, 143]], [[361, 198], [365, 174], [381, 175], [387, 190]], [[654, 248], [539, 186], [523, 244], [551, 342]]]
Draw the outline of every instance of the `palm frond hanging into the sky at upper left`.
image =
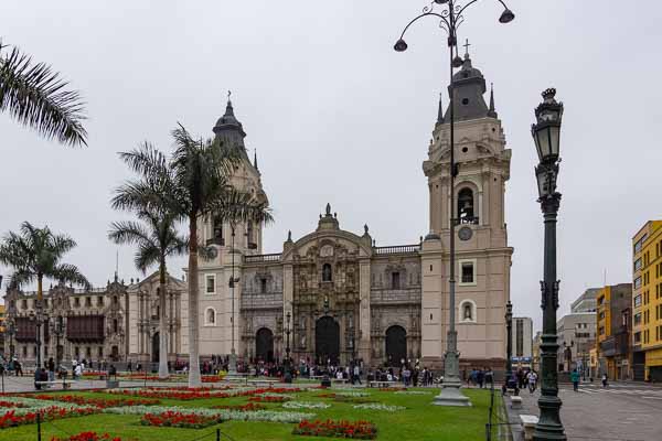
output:
[[3, 53], [6, 47], [0, 41], [0, 111], [46, 139], [87, 146], [79, 93], [66, 90], [67, 83], [47, 64], [33, 64], [17, 47]]

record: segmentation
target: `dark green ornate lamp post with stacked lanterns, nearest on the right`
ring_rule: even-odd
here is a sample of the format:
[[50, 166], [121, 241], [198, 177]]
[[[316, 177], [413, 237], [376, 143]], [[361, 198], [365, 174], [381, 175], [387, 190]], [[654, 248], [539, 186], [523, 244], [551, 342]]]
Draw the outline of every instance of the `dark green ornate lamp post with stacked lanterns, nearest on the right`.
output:
[[560, 205], [560, 193], [556, 191], [560, 158], [559, 135], [563, 104], [554, 98], [556, 89], [543, 92], [543, 103], [535, 109], [536, 123], [531, 127], [540, 162], [535, 168], [538, 202], [545, 224], [544, 280], [541, 281], [543, 309], [543, 334], [541, 343], [542, 388], [538, 408], [541, 416], [534, 440], [566, 440], [560, 422], [558, 398], [556, 310], [558, 309], [558, 284], [556, 279], [556, 216]]

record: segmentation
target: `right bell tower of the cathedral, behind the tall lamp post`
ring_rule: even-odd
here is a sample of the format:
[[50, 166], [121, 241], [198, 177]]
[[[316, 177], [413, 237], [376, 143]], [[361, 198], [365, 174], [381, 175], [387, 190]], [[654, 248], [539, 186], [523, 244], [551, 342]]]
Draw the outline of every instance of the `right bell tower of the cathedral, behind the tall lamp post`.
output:
[[[455, 186], [450, 189], [449, 108], [441, 98], [428, 159], [429, 234], [423, 243], [421, 355], [442, 365], [449, 309], [456, 311], [461, 369], [505, 365], [505, 303], [510, 299], [513, 248], [508, 245], [504, 217], [505, 182], [511, 150], [485, 79], [469, 53], [453, 75]], [[449, 86], [450, 94], [450, 86]], [[450, 204], [453, 192], [455, 206]], [[456, 304], [449, 304], [449, 241], [455, 222]]]

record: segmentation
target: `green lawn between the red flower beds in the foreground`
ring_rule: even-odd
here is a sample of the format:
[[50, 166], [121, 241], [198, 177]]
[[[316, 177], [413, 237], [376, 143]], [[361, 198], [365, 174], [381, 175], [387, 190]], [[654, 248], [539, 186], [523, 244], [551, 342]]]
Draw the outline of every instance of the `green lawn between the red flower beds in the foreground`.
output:
[[[412, 390], [412, 389], [410, 389]], [[426, 389], [417, 389], [426, 390]], [[485, 422], [488, 420], [488, 407], [490, 404], [490, 394], [488, 390], [463, 389], [465, 394], [471, 398], [471, 408], [450, 408], [431, 406], [436, 389], [427, 389], [428, 395], [396, 395], [391, 391], [371, 390], [370, 399], [386, 405], [404, 406], [407, 409], [396, 412], [384, 412], [375, 410], [353, 409], [352, 404], [338, 402], [330, 398], [319, 398], [317, 395], [321, 390], [311, 390], [308, 392], [298, 392], [298, 401], [325, 401], [332, 406], [328, 409], [301, 410], [312, 412], [318, 419], [346, 419], [346, 420], [369, 420], [374, 422], [378, 429], [377, 440], [382, 441], [406, 441], [406, 440], [484, 440]], [[95, 394], [95, 392], [75, 392], [75, 395], [90, 397], [118, 398], [117, 395]], [[498, 398], [499, 395], [495, 396]], [[236, 405], [248, 401], [247, 397], [237, 398], [211, 398], [199, 400], [161, 400], [162, 406], [181, 407], [210, 407], [213, 405]], [[267, 405], [269, 410], [281, 409], [279, 404]], [[284, 409], [286, 410], [286, 409]], [[232, 439], [239, 440], [324, 440], [325, 438], [301, 437], [291, 434], [293, 423], [275, 422], [244, 422], [227, 421], [218, 426], [205, 429], [173, 429], [154, 428], [140, 424], [139, 416], [117, 416], [117, 415], [95, 415], [90, 417], [70, 418], [55, 420], [54, 423], [46, 422], [42, 427], [42, 440], [49, 441], [52, 435], [63, 437], [66, 433], [78, 433], [82, 431], [96, 431], [99, 433], [108, 432], [119, 435], [124, 440], [138, 441], [191, 441], [212, 433], [215, 428], [221, 428], [222, 432], [227, 433]], [[215, 440], [214, 435], [203, 438], [203, 440]], [[227, 440], [227, 438], [221, 438]], [[329, 439], [329, 438], [327, 438]], [[21, 426], [12, 429], [0, 430], [0, 440], [4, 441], [33, 441], [36, 440], [36, 426]]]

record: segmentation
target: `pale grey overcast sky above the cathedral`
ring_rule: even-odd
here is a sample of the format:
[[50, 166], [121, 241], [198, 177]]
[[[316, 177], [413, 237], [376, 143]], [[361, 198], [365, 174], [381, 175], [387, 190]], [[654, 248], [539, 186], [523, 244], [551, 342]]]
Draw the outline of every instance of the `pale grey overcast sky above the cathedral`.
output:
[[[444, 31], [433, 20], [393, 43], [426, 6], [418, 0], [24, 1], [3, 0], [0, 37], [47, 62], [79, 89], [89, 147], [42, 140], [0, 115], [0, 232], [47, 224], [78, 243], [66, 256], [100, 286], [118, 247], [109, 207], [129, 174], [117, 158], [143, 140], [163, 150], [178, 121], [211, 136], [233, 92], [237, 118], [257, 149], [276, 224], [265, 252], [317, 225], [327, 202], [341, 228], [367, 223], [377, 245], [418, 241], [428, 232], [421, 162], [438, 94], [448, 83]], [[631, 279], [631, 237], [662, 217], [659, 19], [662, 4], [511, 0], [514, 22], [482, 0], [467, 12], [461, 41], [494, 83], [512, 149], [506, 187], [511, 298], [516, 315], [541, 323], [543, 224], [535, 202], [533, 108], [549, 86], [565, 104], [563, 201], [558, 224], [559, 313], [586, 288]], [[627, 12], [628, 14], [624, 14]], [[119, 248], [119, 275], [141, 277]], [[183, 259], [170, 261], [181, 276]], [[0, 273], [9, 276], [7, 268]], [[560, 314], [559, 314], [560, 315]]]

